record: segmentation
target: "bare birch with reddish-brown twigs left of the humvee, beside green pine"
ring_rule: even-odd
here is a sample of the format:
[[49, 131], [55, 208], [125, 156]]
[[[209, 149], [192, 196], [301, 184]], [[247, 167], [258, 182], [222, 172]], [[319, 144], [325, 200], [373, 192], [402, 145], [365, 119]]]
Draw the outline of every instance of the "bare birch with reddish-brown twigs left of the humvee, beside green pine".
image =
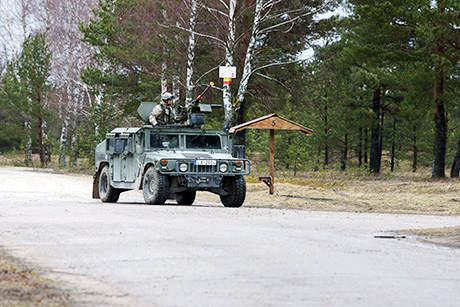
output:
[[[84, 67], [91, 61], [93, 51], [82, 43], [79, 25], [89, 20], [88, 8], [96, 5], [93, 0], [47, 0], [45, 12], [52, 12], [49, 35], [52, 38], [53, 72], [58, 77], [56, 109], [62, 120], [60, 136], [60, 163], [66, 166], [67, 139], [71, 132], [73, 162], [76, 163], [77, 131], [82, 121], [86, 120], [88, 106], [92, 96], [81, 80]], [[48, 13], [49, 14], [49, 13]], [[70, 128], [70, 129], [69, 129]]]

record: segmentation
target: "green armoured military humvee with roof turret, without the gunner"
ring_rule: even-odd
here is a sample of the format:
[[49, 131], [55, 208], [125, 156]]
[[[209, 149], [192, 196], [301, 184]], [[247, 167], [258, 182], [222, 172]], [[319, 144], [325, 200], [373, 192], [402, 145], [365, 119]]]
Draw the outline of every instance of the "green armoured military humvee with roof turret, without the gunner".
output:
[[[139, 107], [145, 122], [153, 106]], [[148, 204], [175, 198], [179, 205], [191, 205], [197, 191], [209, 191], [220, 195], [225, 207], [240, 207], [250, 171], [244, 147], [233, 146], [231, 134], [201, 129], [202, 124], [204, 114], [192, 113], [187, 125], [112, 130], [96, 147], [93, 198], [117, 202], [120, 193], [142, 189]]]

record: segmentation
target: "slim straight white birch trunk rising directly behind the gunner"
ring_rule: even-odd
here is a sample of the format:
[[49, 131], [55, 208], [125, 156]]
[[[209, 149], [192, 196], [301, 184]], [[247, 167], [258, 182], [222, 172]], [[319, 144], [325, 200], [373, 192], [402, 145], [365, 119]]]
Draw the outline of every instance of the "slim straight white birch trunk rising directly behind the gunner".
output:
[[193, 63], [195, 61], [195, 26], [197, 14], [197, 0], [190, 1], [190, 23], [189, 23], [189, 37], [187, 47], [187, 77], [186, 77], [186, 92], [185, 92], [185, 105], [189, 106], [193, 101], [193, 90], [195, 85], [193, 83]]

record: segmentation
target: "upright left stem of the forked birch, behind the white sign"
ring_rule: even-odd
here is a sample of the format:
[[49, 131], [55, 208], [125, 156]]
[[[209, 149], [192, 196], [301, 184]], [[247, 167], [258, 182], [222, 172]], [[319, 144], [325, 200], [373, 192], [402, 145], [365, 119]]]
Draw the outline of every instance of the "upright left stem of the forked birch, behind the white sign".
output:
[[[228, 6], [228, 36], [225, 45], [225, 66], [233, 66], [233, 57], [235, 52], [235, 10], [236, 0], [230, 0]], [[235, 123], [235, 110], [232, 105], [231, 84], [224, 84], [223, 87], [224, 103], [224, 130], [230, 129]]]

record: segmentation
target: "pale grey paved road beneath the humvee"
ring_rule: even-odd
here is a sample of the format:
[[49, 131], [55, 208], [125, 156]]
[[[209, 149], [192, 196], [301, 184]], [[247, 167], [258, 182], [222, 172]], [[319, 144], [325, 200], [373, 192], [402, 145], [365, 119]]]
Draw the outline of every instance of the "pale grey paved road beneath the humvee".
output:
[[[0, 245], [84, 305], [459, 306], [460, 251], [376, 233], [459, 217], [92, 200], [91, 178], [0, 168]], [[267, 197], [269, 197], [267, 195]]]

